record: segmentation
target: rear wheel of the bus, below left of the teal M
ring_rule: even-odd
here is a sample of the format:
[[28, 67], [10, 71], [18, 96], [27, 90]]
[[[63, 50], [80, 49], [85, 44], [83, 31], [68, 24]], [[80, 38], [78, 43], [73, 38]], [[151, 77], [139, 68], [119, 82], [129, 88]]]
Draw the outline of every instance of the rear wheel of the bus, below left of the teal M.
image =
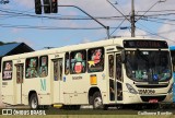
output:
[[32, 94], [30, 97], [30, 107], [32, 109], [37, 109], [38, 108], [38, 99], [36, 94]]

